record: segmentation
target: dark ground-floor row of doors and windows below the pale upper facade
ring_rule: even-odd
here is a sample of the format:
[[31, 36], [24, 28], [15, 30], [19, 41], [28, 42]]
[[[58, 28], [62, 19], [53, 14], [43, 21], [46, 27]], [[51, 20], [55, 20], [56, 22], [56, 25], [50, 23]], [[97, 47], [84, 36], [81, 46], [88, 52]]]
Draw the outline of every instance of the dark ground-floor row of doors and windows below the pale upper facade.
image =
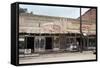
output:
[[20, 35], [19, 49], [30, 50], [30, 53], [50, 53], [50, 52], [76, 52], [80, 50], [95, 49], [95, 36], [88, 36], [80, 42], [80, 34], [27, 34]]

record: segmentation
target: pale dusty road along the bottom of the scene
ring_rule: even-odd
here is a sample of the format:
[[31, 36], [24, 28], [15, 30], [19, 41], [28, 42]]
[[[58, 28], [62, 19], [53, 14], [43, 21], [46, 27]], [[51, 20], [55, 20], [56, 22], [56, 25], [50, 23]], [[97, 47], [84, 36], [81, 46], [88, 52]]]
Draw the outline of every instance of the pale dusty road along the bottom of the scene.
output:
[[[33, 54], [34, 55], [34, 54]], [[42, 54], [35, 57], [19, 58], [19, 63], [41, 63], [41, 62], [58, 62], [58, 61], [76, 61], [76, 60], [91, 60], [96, 59], [96, 55], [93, 52], [85, 51], [83, 53], [57, 53], [57, 54]]]

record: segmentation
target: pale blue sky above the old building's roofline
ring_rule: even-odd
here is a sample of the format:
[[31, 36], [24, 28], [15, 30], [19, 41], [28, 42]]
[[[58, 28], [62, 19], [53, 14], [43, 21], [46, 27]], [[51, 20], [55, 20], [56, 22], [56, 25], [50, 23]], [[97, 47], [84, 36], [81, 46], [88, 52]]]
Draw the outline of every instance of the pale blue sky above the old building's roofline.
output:
[[[58, 7], [58, 6], [40, 6], [20, 4], [20, 8], [27, 8], [28, 12], [36, 15], [46, 15], [55, 17], [78, 18], [80, 16], [80, 8], [77, 7]], [[82, 9], [84, 14], [89, 8]]]

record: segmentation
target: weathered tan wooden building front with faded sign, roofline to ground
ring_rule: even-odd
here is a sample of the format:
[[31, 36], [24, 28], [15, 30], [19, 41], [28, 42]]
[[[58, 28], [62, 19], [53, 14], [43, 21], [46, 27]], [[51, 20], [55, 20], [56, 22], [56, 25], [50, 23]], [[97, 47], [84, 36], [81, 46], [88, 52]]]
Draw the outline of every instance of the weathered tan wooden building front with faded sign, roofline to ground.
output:
[[30, 49], [31, 53], [95, 49], [96, 16], [92, 12], [95, 10], [90, 9], [81, 16], [82, 34], [80, 17], [72, 19], [31, 13], [19, 14], [19, 49]]

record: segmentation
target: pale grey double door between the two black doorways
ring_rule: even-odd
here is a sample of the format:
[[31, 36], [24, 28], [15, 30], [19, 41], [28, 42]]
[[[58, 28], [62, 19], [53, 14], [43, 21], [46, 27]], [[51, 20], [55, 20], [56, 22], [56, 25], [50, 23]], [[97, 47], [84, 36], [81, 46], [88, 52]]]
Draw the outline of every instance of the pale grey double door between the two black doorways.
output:
[[35, 52], [45, 51], [45, 38], [37, 36], [34, 40], [34, 50]]

